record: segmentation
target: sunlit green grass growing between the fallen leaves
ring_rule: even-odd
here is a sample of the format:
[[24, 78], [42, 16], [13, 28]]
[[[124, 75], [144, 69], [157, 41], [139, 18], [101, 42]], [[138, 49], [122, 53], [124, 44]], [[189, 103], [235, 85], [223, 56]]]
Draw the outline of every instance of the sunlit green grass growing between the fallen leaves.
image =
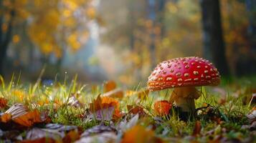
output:
[[[49, 117], [54, 123], [75, 125], [82, 129], [89, 129], [100, 124], [94, 119], [81, 118], [81, 116], [85, 114], [93, 99], [103, 93], [102, 85], [79, 84], [77, 77], [74, 77], [70, 84], [65, 78], [62, 83], [53, 81], [49, 85], [42, 84], [40, 79], [35, 84], [22, 84], [19, 80], [20, 75], [17, 78], [13, 76], [8, 84], [2, 77], [0, 79], [2, 83], [0, 95], [8, 100], [9, 107], [17, 102], [22, 102], [27, 104], [30, 109], [36, 107], [39, 111], [49, 112]], [[151, 92], [144, 99], [140, 99], [136, 95], [124, 96], [123, 99], [119, 99], [120, 110], [128, 112], [127, 105], [141, 105], [148, 116], [140, 118], [138, 124], [152, 128], [157, 137], [167, 141], [172, 141], [172, 139], [181, 139], [182, 142], [191, 141], [196, 120], [199, 120], [202, 125], [201, 135], [195, 138], [198, 142], [216, 140], [217, 137], [229, 141], [237, 139], [245, 141], [248, 138], [255, 141], [255, 133], [241, 128], [244, 124], [250, 124], [245, 115], [254, 106], [253, 103], [250, 104], [250, 99], [252, 93], [255, 92], [255, 85], [256, 78], [250, 77], [233, 79], [232, 82], [224, 80], [219, 87], [198, 88], [202, 96], [196, 100], [196, 108], [204, 107], [205, 103], [210, 104], [214, 113], [222, 120], [221, 124], [209, 119], [209, 114], [199, 114], [197, 117], [189, 119], [188, 122], [179, 120], [176, 114], [170, 114], [162, 117], [160, 123], [157, 124], [153, 103], [161, 99], [169, 99], [172, 89]], [[135, 88], [135, 90], [140, 90], [140, 88]], [[67, 101], [72, 95], [75, 95], [84, 106], [77, 108], [68, 105]], [[1, 109], [1, 112], [5, 110]], [[106, 124], [117, 125], [119, 122]]]

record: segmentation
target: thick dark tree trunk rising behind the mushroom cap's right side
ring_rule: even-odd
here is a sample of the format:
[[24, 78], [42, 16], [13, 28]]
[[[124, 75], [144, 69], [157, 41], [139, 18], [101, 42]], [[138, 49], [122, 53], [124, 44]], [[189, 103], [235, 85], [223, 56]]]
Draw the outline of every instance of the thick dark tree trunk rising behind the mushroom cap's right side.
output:
[[229, 68], [222, 35], [219, 0], [201, 0], [204, 57], [213, 61], [219, 72], [227, 76]]

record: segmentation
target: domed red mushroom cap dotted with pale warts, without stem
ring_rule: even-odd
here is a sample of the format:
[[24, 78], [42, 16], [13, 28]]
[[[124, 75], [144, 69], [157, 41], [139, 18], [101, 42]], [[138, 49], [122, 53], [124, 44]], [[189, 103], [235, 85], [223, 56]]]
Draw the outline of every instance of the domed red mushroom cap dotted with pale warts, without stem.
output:
[[191, 56], [158, 64], [148, 77], [148, 89], [155, 91], [172, 87], [199, 87], [217, 85], [219, 82], [219, 71], [211, 62]]

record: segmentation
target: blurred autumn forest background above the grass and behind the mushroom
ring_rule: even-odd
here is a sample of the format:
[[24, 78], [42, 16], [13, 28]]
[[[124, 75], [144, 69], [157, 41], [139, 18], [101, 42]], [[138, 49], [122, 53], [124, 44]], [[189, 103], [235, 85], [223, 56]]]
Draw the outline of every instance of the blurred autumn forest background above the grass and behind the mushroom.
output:
[[165, 59], [256, 74], [255, 0], [0, 0], [0, 74], [146, 83]]

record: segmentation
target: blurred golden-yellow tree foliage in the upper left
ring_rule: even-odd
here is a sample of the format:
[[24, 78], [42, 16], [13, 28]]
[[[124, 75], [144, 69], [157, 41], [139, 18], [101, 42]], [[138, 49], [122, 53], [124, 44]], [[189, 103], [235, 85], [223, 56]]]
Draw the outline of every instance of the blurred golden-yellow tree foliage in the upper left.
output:
[[27, 21], [27, 32], [43, 54], [54, 54], [59, 61], [65, 49], [80, 49], [87, 41], [86, 24], [96, 18], [92, 0], [0, 0], [0, 74], [6, 50], [19, 35], [12, 27]]

